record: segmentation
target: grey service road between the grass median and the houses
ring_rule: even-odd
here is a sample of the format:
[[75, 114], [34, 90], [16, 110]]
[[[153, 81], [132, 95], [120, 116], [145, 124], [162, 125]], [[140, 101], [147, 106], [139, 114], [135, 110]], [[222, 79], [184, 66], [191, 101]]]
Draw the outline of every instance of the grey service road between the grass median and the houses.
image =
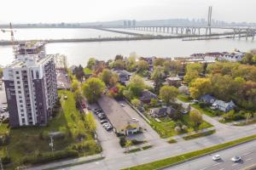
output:
[[[118, 150], [115, 153], [115, 151], [111, 148], [104, 148], [103, 146], [103, 149], [112, 150], [109, 152], [107, 151], [111, 156], [106, 156], [106, 158], [102, 161], [90, 162], [71, 168], [78, 170], [115, 170], [124, 167], [132, 167], [139, 164], [164, 159], [170, 156], [177, 156], [194, 150], [201, 150], [212, 145], [223, 144], [230, 140], [241, 139], [256, 133], [256, 125], [235, 127], [222, 124], [209, 116], [204, 116], [204, 118], [207, 120], [207, 122], [211, 122], [216, 127], [216, 133], [204, 138], [192, 139], [188, 141], [183, 140], [177, 144], [155, 144], [150, 150], [143, 150], [131, 154], [119, 154]], [[157, 140], [160, 141], [162, 139], [155, 139], [154, 142], [157, 143]]]

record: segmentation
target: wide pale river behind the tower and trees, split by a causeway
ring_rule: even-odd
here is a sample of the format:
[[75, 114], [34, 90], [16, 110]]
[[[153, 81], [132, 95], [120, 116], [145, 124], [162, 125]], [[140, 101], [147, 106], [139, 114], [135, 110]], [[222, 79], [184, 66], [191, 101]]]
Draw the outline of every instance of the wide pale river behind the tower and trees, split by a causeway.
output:
[[[50, 31], [47, 31], [50, 30]], [[22, 31], [22, 34], [19, 32]], [[32, 31], [30, 34], [29, 32]], [[54, 38], [82, 38], [82, 37], [124, 37], [108, 31], [98, 31], [91, 29], [19, 29], [16, 35], [21, 34], [16, 39], [54, 39]], [[0, 33], [0, 37], [4, 34]], [[6, 35], [5, 35], [6, 36]], [[5, 37], [7, 38], [7, 37]], [[3, 38], [0, 38], [3, 39]], [[113, 59], [116, 54], [128, 56], [135, 52], [139, 56], [159, 56], [159, 57], [181, 57], [194, 53], [206, 52], [231, 52], [235, 48], [241, 51], [248, 51], [256, 48], [256, 41], [238, 39], [219, 39], [201, 41], [182, 41], [181, 39], [164, 40], [142, 40], [130, 42], [65, 42], [49, 43], [46, 45], [47, 54], [67, 55], [68, 65], [86, 65], [90, 57], [96, 59]], [[10, 46], [0, 46], [0, 65], [8, 65], [13, 59], [12, 48]]]

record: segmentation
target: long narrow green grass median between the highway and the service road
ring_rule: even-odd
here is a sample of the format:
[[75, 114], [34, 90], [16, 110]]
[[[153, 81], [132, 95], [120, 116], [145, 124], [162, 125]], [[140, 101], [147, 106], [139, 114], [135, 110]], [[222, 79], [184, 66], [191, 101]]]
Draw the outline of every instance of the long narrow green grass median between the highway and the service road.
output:
[[178, 163], [178, 162], [186, 161], [186, 160], [195, 158], [197, 156], [202, 156], [202, 155], [205, 155], [205, 154], [209, 154], [209, 153], [212, 153], [214, 151], [223, 150], [225, 148], [234, 146], [236, 144], [241, 144], [241, 143], [244, 143], [244, 142], [247, 142], [247, 141], [252, 141], [254, 139], [256, 139], [256, 135], [248, 136], [248, 137], [242, 138], [242, 139], [236, 139], [236, 140], [224, 143], [224, 144], [214, 145], [212, 147], [202, 149], [202, 150], [195, 150], [195, 151], [185, 153], [185, 154], [182, 154], [182, 155], [179, 155], [179, 156], [172, 156], [172, 157], [168, 157], [168, 158], [163, 159], [163, 160], [152, 161], [152, 162], [145, 163], [145, 164], [142, 164], [142, 165], [138, 165], [138, 166], [135, 166], [135, 167], [128, 167], [128, 168], [125, 168], [125, 170], [128, 170], [128, 169], [129, 170], [160, 169], [162, 167], [172, 166], [173, 164]]

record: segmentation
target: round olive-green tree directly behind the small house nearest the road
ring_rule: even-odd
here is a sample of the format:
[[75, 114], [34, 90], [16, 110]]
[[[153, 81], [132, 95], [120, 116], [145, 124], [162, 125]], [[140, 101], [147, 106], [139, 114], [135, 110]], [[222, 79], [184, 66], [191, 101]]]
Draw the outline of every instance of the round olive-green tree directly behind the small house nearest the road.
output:
[[163, 86], [160, 88], [160, 99], [164, 100], [166, 104], [174, 103], [178, 94], [177, 88], [173, 86]]

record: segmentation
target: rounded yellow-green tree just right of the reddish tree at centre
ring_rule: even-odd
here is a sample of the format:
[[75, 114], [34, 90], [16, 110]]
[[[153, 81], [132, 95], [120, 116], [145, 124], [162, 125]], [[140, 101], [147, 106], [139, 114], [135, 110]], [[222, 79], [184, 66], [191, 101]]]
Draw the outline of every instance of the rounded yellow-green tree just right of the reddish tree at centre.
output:
[[135, 76], [132, 77], [127, 88], [131, 91], [132, 96], [139, 97], [146, 87], [145, 82], [142, 77]]

